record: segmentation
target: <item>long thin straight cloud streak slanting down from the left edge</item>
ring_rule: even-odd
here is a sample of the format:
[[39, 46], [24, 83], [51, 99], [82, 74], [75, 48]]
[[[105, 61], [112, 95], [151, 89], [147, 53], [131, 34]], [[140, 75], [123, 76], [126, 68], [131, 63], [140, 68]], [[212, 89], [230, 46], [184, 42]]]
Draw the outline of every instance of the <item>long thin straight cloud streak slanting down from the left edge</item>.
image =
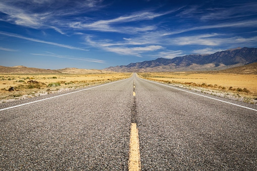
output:
[[65, 47], [65, 48], [69, 48], [69, 49], [77, 49], [77, 50], [88, 51], [87, 49], [83, 49], [83, 48], [79, 48], [79, 47], [74, 47], [74, 46], [70, 46], [70, 45], [66, 45], [66, 44], [59, 44], [59, 43], [55, 43], [55, 42], [38, 40], [38, 39], [29, 38], [29, 37], [25, 37], [25, 36], [21, 36], [21, 35], [18, 35], [18, 34], [13, 34], [13, 33], [8, 33], [8, 32], [4, 32], [4, 31], [0, 31], [0, 34], [10, 36], [10, 37], [17, 37], [17, 38], [21, 38], [21, 39], [25, 39], [25, 40], [29, 40], [29, 41], [45, 43], [45, 44], [50, 44], [50, 45], [59, 46], [59, 47]]

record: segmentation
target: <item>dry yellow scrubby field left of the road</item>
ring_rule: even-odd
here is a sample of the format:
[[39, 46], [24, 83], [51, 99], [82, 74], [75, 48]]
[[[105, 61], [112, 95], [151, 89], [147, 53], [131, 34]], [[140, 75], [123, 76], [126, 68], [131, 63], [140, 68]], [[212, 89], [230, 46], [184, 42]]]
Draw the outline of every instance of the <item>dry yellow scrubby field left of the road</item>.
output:
[[[0, 102], [82, 88], [129, 78], [131, 73], [0, 74]], [[10, 89], [13, 87], [14, 90]]]

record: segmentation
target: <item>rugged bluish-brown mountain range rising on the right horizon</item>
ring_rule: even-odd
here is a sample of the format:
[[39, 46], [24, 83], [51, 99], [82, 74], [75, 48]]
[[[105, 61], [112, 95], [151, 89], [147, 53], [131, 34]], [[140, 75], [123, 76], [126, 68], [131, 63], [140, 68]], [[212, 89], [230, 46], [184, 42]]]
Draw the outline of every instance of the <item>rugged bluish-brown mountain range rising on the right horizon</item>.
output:
[[173, 59], [158, 58], [105, 68], [115, 72], [174, 72], [223, 70], [257, 62], [257, 48], [237, 47], [213, 54], [189, 54]]

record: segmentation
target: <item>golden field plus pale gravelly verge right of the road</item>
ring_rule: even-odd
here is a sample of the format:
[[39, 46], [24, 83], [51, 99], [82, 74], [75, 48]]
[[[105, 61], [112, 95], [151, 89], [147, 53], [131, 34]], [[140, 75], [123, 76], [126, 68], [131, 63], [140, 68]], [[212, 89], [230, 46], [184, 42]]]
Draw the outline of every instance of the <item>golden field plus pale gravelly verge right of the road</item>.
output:
[[147, 80], [257, 104], [257, 74], [160, 72], [137, 75]]

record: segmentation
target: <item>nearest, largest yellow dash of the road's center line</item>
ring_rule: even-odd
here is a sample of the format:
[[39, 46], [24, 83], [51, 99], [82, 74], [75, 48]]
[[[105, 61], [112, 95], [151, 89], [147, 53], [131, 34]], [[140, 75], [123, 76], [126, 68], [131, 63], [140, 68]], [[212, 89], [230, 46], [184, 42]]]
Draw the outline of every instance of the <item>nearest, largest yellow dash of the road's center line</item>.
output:
[[129, 171], [141, 170], [139, 138], [136, 123], [131, 123]]

